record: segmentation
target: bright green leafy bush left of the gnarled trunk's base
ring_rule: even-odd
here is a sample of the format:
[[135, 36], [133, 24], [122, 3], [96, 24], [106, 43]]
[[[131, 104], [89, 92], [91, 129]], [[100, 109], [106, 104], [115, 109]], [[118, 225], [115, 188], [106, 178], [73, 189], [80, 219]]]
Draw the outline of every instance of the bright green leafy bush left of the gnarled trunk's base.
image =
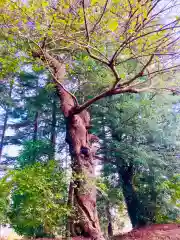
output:
[[[66, 191], [64, 173], [53, 161], [10, 171], [0, 181], [0, 201], [10, 199], [7, 213], [10, 224], [25, 236], [52, 236], [60, 226], [63, 230], [69, 214]], [[1, 213], [5, 210], [3, 206]]]

